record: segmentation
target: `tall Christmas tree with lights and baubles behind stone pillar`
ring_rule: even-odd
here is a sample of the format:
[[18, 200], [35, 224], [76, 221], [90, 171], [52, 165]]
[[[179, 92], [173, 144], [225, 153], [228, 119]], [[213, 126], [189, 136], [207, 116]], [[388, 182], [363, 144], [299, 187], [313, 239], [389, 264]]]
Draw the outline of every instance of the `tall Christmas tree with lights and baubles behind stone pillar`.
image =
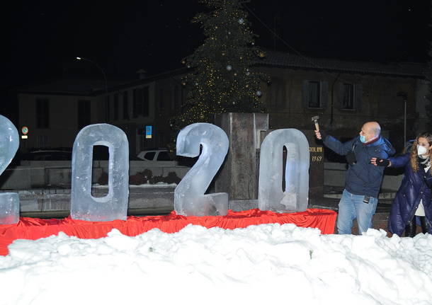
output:
[[182, 60], [190, 72], [183, 78], [187, 89], [181, 115], [171, 120], [174, 130], [195, 122], [213, 122], [215, 114], [265, 112], [261, 82], [268, 77], [251, 66], [263, 51], [254, 45], [247, 13], [240, 0], [200, 0], [210, 12], [198, 13], [193, 23], [203, 28], [205, 41]]

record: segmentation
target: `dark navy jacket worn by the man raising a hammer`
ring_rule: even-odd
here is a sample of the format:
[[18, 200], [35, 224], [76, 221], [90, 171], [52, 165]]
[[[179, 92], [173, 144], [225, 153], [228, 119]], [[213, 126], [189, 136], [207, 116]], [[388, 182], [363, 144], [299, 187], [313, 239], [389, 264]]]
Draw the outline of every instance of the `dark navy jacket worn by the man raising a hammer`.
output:
[[345, 177], [345, 189], [354, 195], [368, 195], [378, 197], [380, 192], [384, 167], [374, 166], [371, 158], [388, 159], [394, 154], [394, 148], [385, 137], [379, 137], [375, 142], [363, 144], [360, 137], [355, 137], [348, 142], [341, 143], [331, 136], [326, 136], [324, 145], [336, 154], [346, 156], [348, 151], [356, 154], [356, 163], [348, 165]]

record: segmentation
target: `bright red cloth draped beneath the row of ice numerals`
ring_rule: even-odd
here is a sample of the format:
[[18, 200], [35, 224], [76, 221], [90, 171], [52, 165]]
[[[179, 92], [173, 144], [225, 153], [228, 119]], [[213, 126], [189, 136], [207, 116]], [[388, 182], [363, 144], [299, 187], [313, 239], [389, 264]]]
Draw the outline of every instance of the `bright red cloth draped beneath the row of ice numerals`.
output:
[[79, 238], [106, 237], [112, 229], [118, 229], [127, 236], [136, 236], [158, 228], [166, 233], [174, 233], [188, 224], [198, 224], [207, 228], [222, 229], [245, 228], [252, 224], [295, 224], [297, 226], [318, 228], [322, 234], [333, 234], [336, 212], [329, 209], [307, 209], [297, 213], [275, 213], [249, 209], [247, 211], [228, 211], [226, 216], [181, 216], [176, 212], [164, 216], [127, 217], [126, 221], [84, 221], [71, 218], [39, 219], [21, 217], [18, 224], [0, 225], [0, 255], [8, 254], [8, 245], [15, 239], [38, 239], [57, 235], [60, 231], [68, 236]]

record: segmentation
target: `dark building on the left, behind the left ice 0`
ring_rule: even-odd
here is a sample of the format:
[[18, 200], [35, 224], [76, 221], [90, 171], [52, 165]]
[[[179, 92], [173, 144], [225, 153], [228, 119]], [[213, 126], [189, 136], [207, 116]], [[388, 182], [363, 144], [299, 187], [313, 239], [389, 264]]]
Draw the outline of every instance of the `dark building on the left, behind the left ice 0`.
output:
[[[19, 128], [28, 128], [21, 152], [34, 149], [71, 148], [86, 125], [108, 123], [122, 129], [130, 154], [166, 146], [169, 117], [177, 113], [184, 89], [176, 71], [133, 81], [108, 82], [63, 79], [18, 91]], [[146, 134], [147, 132], [147, 134]]]

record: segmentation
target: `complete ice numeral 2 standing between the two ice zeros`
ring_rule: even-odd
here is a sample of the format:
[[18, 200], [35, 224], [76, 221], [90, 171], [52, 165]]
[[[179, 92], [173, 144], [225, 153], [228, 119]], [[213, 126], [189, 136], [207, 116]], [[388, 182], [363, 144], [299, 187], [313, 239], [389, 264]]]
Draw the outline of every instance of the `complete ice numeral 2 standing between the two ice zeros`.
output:
[[[185, 216], [226, 215], [228, 194], [219, 192], [204, 195], [219, 170], [228, 151], [228, 137], [212, 124], [195, 123], [178, 133], [177, 155], [195, 157], [198, 161], [174, 190], [174, 209]], [[203, 151], [200, 154], [200, 146]]]

